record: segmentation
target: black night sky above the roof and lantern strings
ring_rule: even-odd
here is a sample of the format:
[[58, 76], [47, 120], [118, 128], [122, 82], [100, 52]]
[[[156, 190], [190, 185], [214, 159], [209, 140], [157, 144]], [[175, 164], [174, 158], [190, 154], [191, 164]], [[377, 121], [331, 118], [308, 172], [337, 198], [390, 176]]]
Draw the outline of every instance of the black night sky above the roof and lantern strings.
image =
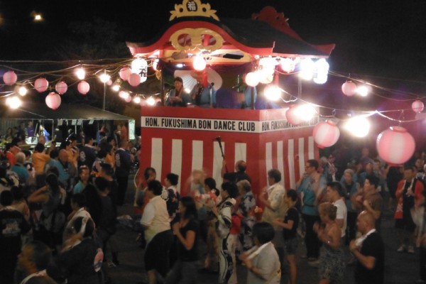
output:
[[[181, 3], [171, 0], [0, 1], [0, 58], [57, 60], [58, 45], [70, 35], [69, 23], [94, 18], [116, 23], [116, 40], [125, 49], [126, 40], [150, 40], [162, 31], [174, 4]], [[273, 6], [289, 18], [290, 27], [307, 42], [336, 44], [328, 60], [330, 70], [390, 89], [413, 92], [419, 97], [425, 94], [426, 1], [210, 0], [209, 3], [219, 18], [250, 18], [264, 6]], [[31, 11], [43, 13], [45, 21], [33, 23]], [[130, 53], [125, 55], [130, 57]], [[327, 88], [339, 89], [344, 82], [339, 80], [337, 87], [323, 87], [324, 92]], [[400, 96], [392, 92], [382, 94]], [[403, 98], [409, 97], [403, 95]]]

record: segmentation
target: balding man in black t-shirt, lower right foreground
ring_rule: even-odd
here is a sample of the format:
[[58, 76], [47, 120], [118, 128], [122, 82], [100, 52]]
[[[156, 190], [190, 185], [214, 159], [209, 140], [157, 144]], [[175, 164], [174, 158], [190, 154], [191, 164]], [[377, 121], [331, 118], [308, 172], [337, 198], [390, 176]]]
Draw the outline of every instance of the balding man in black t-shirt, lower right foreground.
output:
[[375, 229], [373, 214], [363, 211], [356, 219], [356, 226], [362, 236], [349, 244], [351, 253], [356, 257], [355, 283], [384, 283], [385, 246]]

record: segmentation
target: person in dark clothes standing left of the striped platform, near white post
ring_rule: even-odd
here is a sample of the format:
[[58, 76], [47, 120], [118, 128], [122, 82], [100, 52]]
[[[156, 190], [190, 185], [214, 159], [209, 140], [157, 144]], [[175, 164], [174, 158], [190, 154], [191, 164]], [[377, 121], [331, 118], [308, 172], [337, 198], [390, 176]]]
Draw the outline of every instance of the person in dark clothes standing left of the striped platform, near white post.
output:
[[115, 153], [116, 179], [119, 184], [117, 205], [124, 204], [127, 184], [131, 167], [130, 154], [126, 151], [127, 141], [121, 141], [119, 150]]

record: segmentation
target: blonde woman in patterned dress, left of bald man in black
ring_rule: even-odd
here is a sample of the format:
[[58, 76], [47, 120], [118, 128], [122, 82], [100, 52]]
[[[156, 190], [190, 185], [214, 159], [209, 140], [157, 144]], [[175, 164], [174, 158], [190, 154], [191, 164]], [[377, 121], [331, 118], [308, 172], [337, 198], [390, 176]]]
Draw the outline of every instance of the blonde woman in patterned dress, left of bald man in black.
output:
[[337, 207], [324, 202], [318, 209], [322, 224], [315, 223], [314, 231], [324, 244], [320, 253], [319, 283], [342, 283], [346, 263], [340, 238], [342, 231], [336, 221]]

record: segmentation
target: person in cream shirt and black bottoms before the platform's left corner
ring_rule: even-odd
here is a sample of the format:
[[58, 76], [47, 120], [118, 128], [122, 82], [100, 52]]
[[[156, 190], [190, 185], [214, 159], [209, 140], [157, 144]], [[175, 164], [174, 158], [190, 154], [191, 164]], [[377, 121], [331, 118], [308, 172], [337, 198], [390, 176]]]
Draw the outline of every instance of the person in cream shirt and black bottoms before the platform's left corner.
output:
[[149, 202], [143, 210], [141, 224], [145, 229], [144, 261], [149, 284], [156, 283], [155, 271], [163, 277], [169, 271], [169, 251], [172, 246], [173, 234], [170, 230], [167, 204], [161, 198], [162, 192], [163, 185], [158, 180], [148, 182], [146, 195]]

